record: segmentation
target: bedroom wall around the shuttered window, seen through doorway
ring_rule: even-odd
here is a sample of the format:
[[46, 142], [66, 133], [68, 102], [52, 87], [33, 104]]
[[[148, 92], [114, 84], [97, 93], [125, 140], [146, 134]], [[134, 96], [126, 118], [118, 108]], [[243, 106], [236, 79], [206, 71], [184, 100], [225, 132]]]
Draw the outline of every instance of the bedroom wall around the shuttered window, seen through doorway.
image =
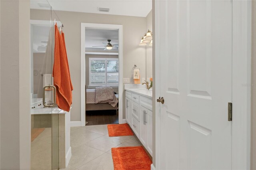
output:
[[[86, 54], [85, 55], [85, 84], [87, 89], [93, 89], [92, 87], [88, 87], [89, 85], [89, 58], [118, 58], [118, 55], [93, 55]], [[118, 94], [118, 87], [113, 87], [114, 92]]]

